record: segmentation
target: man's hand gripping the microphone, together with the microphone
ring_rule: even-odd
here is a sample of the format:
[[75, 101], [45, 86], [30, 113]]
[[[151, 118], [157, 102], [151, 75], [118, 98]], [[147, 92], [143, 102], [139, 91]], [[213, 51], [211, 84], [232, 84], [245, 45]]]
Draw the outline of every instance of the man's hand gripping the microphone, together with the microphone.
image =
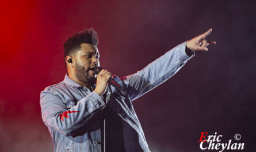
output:
[[97, 84], [94, 91], [97, 92], [98, 95], [102, 96], [106, 92], [106, 86], [108, 84], [112, 85], [116, 89], [121, 88], [120, 85], [113, 80], [113, 77], [108, 70], [102, 69], [101, 67], [95, 67], [94, 72], [97, 75]]

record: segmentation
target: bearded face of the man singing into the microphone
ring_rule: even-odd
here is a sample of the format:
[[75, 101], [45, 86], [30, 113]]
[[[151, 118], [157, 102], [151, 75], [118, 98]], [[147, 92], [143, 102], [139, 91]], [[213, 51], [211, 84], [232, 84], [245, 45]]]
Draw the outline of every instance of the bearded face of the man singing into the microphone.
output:
[[94, 83], [96, 80], [93, 67], [99, 66], [98, 49], [91, 44], [81, 44], [82, 50], [75, 53], [75, 76], [79, 81], [86, 84]]

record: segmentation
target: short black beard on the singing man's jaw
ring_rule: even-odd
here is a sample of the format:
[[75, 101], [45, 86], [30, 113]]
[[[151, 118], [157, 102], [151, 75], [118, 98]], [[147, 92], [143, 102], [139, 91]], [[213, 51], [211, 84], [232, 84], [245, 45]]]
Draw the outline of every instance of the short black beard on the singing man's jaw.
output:
[[85, 69], [85, 67], [82, 67], [81, 65], [75, 63], [75, 76], [79, 81], [82, 81], [86, 84], [93, 84], [95, 82], [95, 77], [89, 76], [89, 69]]

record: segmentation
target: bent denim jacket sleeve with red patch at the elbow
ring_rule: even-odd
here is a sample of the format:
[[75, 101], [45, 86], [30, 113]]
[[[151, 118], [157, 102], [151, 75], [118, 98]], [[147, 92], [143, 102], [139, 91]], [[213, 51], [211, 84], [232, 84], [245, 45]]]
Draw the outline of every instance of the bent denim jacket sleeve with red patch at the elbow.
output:
[[95, 114], [105, 107], [105, 103], [98, 93], [91, 92], [79, 100], [77, 105], [67, 109], [60, 96], [45, 90], [41, 92], [40, 106], [44, 123], [68, 136], [85, 126]]

